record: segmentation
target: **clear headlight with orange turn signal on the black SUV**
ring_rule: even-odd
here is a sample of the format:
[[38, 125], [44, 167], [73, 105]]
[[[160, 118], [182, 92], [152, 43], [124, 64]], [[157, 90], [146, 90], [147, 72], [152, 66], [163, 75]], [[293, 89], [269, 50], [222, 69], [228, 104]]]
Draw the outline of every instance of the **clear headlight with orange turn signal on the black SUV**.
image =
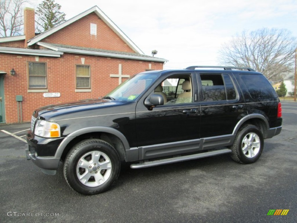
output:
[[59, 124], [54, 122], [38, 120], [35, 125], [34, 134], [36, 136], [41, 136], [45, 138], [60, 137], [61, 136], [60, 126]]

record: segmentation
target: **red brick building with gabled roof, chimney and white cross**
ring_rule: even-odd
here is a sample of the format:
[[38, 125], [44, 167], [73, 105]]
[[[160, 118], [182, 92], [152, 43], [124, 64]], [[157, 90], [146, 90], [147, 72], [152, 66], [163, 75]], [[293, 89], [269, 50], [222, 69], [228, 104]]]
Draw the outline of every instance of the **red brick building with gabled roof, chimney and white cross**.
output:
[[24, 35], [0, 38], [0, 123], [30, 121], [48, 104], [98, 98], [164, 62], [144, 55], [97, 6], [39, 35], [26, 8]]

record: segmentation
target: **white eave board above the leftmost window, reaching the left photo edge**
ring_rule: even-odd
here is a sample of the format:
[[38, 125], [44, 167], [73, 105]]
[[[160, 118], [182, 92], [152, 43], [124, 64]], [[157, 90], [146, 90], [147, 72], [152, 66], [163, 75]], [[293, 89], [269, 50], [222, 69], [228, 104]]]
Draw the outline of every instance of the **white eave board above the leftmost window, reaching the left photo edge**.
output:
[[26, 48], [12, 48], [12, 47], [2, 47], [0, 46], [0, 53], [7, 54], [24, 54], [24, 55], [33, 55], [33, 56], [52, 56], [60, 57], [63, 55], [63, 52], [55, 52], [48, 50], [33, 50]]

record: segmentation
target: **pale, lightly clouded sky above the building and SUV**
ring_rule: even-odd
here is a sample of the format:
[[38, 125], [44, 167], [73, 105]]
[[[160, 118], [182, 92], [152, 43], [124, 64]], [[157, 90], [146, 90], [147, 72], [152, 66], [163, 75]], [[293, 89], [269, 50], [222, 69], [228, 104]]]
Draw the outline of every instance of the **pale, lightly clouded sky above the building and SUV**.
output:
[[[42, 0], [31, 0], [36, 7]], [[56, 0], [70, 19], [97, 5], [164, 69], [223, 65], [219, 50], [243, 31], [288, 29], [297, 37], [297, 0]], [[91, 46], [90, 46], [91, 47]]]

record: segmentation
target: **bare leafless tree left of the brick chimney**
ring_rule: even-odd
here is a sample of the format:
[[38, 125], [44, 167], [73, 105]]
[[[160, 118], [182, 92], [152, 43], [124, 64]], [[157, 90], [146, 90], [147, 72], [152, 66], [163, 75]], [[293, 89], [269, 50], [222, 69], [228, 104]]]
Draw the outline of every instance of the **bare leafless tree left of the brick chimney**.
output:
[[25, 2], [27, 0], [0, 0], [0, 37], [21, 34]]

